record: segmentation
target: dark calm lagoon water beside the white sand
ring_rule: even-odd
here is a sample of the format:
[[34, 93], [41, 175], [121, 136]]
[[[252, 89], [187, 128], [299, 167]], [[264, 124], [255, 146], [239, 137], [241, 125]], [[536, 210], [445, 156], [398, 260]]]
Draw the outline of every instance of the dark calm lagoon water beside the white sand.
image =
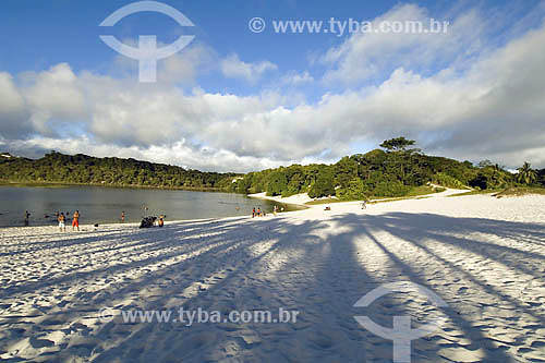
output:
[[[272, 210], [272, 202], [240, 194], [100, 186], [25, 187], [0, 186], [0, 227], [57, 225], [56, 211], [80, 210], [81, 222], [140, 221], [143, 216], [166, 215], [168, 220], [249, 216], [252, 208]], [[145, 209], [147, 207], [147, 211]], [[46, 218], [46, 216], [49, 216]]]

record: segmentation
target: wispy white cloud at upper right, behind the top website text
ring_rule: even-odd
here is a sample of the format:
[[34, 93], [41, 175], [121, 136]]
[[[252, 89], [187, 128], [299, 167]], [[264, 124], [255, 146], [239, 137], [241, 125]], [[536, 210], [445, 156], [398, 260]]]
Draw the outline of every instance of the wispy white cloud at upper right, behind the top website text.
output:
[[[372, 24], [378, 28], [382, 22], [417, 21], [427, 28], [431, 19], [425, 8], [402, 4], [376, 17]], [[322, 62], [331, 65], [324, 81], [354, 85], [382, 80], [385, 73], [397, 68], [427, 71], [452, 63], [462, 65], [486, 50], [484, 37], [486, 29], [493, 28], [491, 22], [471, 10], [450, 20], [446, 33], [354, 33], [322, 57]]]

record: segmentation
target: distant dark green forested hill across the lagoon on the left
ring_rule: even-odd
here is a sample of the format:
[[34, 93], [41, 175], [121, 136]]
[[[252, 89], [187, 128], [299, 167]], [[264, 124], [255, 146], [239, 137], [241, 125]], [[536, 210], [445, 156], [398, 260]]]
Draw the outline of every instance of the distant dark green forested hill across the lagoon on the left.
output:
[[225, 190], [240, 176], [83, 154], [71, 156], [51, 152], [36, 160], [9, 153], [0, 156], [0, 180], [9, 182]]

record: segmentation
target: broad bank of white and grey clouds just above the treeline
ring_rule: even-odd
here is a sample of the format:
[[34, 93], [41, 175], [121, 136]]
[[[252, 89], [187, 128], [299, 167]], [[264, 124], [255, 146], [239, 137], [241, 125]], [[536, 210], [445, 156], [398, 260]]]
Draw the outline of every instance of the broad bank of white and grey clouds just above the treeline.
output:
[[[425, 16], [420, 8], [403, 9]], [[471, 20], [472, 14], [457, 19]], [[341, 64], [335, 71], [339, 76], [342, 72], [348, 76], [349, 70], [359, 74], [353, 62], [360, 51], [356, 40], [348, 40], [354, 41], [350, 49], [340, 46], [329, 52]], [[398, 50], [393, 39], [384, 41], [386, 50], [389, 44]], [[458, 48], [467, 44], [469, 49], [481, 40], [456, 41]], [[450, 44], [426, 40], [416, 48], [427, 55]], [[379, 43], [368, 47], [364, 41], [363, 48], [373, 51]], [[294, 102], [293, 95], [272, 90], [240, 96], [195, 87], [187, 93], [171, 82], [138, 84], [134, 78], [74, 74], [68, 64], [27, 74], [22, 81], [0, 73], [0, 141], [2, 147], [16, 150], [55, 148], [246, 171], [334, 161], [353, 152], [353, 145], [405, 135], [419, 140], [425, 150], [446, 156], [492, 159], [511, 168], [528, 159], [545, 167], [544, 48], [542, 26], [499, 49], [479, 56], [471, 51], [471, 61], [464, 58], [460, 63], [450, 55], [449, 64], [433, 72], [422, 72], [409, 52], [407, 66], [396, 66], [384, 82], [328, 93], [314, 104]], [[257, 66], [246, 65], [242, 68]], [[195, 69], [187, 66], [174, 64], [170, 72], [194, 77]], [[366, 77], [366, 65], [361, 66]], [[244, 72], [253, 74], [250, 78], [256, 76], [255, 71]], [[304, 72], [284, 77], [306, 75], [311, 77]]]

